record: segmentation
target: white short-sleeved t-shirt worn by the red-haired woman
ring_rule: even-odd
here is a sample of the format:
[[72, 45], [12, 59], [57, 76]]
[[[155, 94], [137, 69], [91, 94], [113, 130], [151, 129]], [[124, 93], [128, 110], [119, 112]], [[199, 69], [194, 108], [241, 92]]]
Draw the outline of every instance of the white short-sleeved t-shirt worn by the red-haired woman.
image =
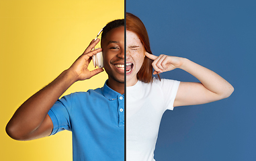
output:
[[161, 118], [173, 110], [179, 81], [154, 78], [126, 87], [126, 159], [153, 161]]

